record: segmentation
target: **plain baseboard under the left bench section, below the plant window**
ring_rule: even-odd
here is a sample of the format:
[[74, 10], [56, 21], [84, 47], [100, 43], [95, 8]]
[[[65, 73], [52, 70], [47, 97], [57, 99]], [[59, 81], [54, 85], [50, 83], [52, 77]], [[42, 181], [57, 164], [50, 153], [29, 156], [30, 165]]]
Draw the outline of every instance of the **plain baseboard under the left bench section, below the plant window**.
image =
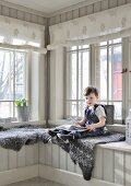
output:
[[0, 186], [38, 176], [38, 164], [0, 172]]

